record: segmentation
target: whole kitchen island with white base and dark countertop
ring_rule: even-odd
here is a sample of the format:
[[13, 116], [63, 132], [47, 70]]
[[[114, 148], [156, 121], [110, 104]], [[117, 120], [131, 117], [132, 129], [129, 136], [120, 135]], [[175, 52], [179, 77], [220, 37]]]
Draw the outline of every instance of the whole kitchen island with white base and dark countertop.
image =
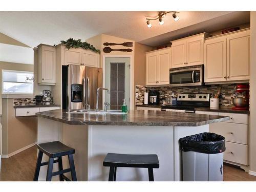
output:
[[[38, 116], [37, 142], [60, 141], [75, 148], [78, 181], [108, 181], [109, 167], [102, 162], [107, 153], [157, 154], [160, 168], [155, 181], [180, 181], [179, 139], [209, 131], [209, 123], [229, 117], [164, 111], [130, 111], [126, 115], [74, 114], [52, 110]], [[43, 161], [48, 158], [44, 155]], [[68, 160], [63, 158], [64, 168]], [[45, 180], [47, 167], [41, 167], [39, 180]], [[54, 171], [57, 164], [54, 165]], [[67, 174], [68, 177], [70, 177]], [[53, 177], [58, 180], [58, 177]], [[147, 181], [145, 168], [117, 168], [117, 181]]]

